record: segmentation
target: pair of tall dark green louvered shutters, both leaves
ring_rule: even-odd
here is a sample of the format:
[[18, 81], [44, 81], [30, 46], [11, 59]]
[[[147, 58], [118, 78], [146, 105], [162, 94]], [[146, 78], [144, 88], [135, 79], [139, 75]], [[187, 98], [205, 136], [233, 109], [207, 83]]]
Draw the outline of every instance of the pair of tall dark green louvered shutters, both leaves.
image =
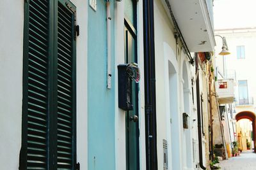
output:
[[19, 169], [76, 167], [75, 21], [70, 1], [24, 3]]

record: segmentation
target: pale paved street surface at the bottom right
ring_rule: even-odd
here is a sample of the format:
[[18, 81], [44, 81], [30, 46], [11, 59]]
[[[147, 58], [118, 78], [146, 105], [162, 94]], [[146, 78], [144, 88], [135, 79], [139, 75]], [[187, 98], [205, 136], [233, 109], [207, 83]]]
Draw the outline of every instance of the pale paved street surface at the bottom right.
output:
[[256, 153], [243, 152], [237, 157], [220, 161], [221, 170], [256, 170]]

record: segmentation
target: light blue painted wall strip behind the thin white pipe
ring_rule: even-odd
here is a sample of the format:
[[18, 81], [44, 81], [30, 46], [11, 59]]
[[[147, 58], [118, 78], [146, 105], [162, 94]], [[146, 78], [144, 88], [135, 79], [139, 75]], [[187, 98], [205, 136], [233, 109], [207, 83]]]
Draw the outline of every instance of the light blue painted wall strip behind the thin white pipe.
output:
[[106, 1], [88, 4], [88, 169], [115, 169], [114, 1], [111, 1], [112, 89], [107, 89]]

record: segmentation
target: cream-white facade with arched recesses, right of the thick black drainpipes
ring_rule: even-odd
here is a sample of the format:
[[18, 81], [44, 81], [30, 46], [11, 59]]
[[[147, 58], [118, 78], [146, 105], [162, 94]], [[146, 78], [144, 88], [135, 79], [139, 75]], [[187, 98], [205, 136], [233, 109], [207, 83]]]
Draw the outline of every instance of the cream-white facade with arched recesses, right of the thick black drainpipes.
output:
[[[193, 67], [185, 64], [188, 71], [186, 82], [189, 83], [189, 87], [184, 89], [182, 66], [184, 62], [187, 62], [186, 57], [180, 50], [180, 46], [176, 46], [173, 25], [161, 1], [154, 1], [154, 16], [158, 169], [163, 169], [163, 139], [168, 141], [168, 169], [192, 169], [196, 164], [193, 163], [192, 138], [197, 139], [196, 132], [193, 133], [195, 129], [191, 122], [195, 116], [191, 97], [191, 74], [193, 73], [191, 69]], [[184, 90], [187, 90], [186, 92], [189, 94], [189, 108], [186, 110], [191, 118], [189, 118], [188, 131], [182, 125], [182, 113], [185, 110]], [[189, 141], [186, 138], [190, 138], [190, 144], [186, 143]], [[186, 148], [186, 146], [190, 147]], [[186, 149], [191, 149], [191, 152]], [[188, 156], [188, 154], [190, 155]]]

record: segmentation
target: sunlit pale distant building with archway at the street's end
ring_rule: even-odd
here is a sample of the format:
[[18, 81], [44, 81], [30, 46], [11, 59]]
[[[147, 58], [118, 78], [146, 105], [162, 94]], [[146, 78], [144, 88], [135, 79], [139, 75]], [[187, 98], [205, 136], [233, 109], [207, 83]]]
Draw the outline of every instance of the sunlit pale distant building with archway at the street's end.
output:
[[[255, 43], [256, 43], [256, 28], [255, 27], [239, 27], [234, 29], [218, 29], [215, 34], [224, 36], [228, 42], [228, 50], [230, 55], [224, 57], [217, 55], [216, 66], [218, 70], [218, 79], [233, 78], [235, 85], [235, 100], [232, 106], [228, 109], [229, 120], [229, 138], [231, 141], [239, 140], [239, 133], [236, 131], [236, 115], [247, 114], [255, 115], [256, 103], [256, 79], [255, 69]], [[221, 41], [216, 39], [220, 48]], [[245, 117], [244, 118], [250, 118]], [[254, 118], [250, 118], [254, 124]], [[240, 120], [240, 119], [239, 119]], [[253, 125], [252, 124], [252, 125]], [[240, 126], [240, 125], [239, 125]], [[253, 125], [254, 126], [254, 125]], [[255, 134], [255, 130], [253, 130]], [[250, 135], [251, 136], [251, 135]], [[255, 136], [255, 135], [254, 135]], [[253, 137], [253, 140], [254, 137]]]

